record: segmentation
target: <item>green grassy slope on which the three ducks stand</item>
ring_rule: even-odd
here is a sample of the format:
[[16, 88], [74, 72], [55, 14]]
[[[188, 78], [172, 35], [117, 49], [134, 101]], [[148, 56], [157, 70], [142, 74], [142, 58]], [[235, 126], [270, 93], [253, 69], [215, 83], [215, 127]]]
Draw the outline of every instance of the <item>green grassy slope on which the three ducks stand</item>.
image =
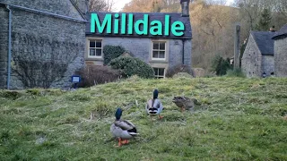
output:
[[[144, 103], [155, 88], [165, 109], [152, 122]], [[286, 91], [286, 79], [239, 78], [133, 78], [74, 92], [33, 89], [15, 100], [2, 91], [0, 160], [287, 160]], [[182, 114], [176, 95], [203, 105]], [[141, 134], [122, 148], [110, 140], [116, 106]]]

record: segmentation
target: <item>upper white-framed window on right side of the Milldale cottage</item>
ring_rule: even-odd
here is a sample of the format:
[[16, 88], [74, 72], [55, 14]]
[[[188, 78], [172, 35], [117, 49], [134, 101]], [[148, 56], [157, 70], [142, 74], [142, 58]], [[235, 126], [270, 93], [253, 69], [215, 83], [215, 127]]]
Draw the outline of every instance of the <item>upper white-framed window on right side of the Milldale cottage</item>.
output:
[[165, 60], [166, 42], [165, 41], [152, 41], [152, 59]]

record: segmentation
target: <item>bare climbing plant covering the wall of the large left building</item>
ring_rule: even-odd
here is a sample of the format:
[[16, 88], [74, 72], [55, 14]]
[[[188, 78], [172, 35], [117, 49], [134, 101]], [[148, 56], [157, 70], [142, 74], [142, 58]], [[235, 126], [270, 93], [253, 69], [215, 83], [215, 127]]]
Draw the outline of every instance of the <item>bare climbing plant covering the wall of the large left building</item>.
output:
[[[12, 72], [27, 89], [48, 89], [53, 82], [62, 80], [69, 64], [74, 62], [82, 50], [80, 44], [67, 44], [49, 38], [39, 38], [42, 40], [39, 42], [35, 36], [22, 33], [14, 33], [13, 39], [17, 45], [13, 51]], [[27, 42], [36, 44], [30, 46]], [[65, 47], [65, 51], [61, 47]], [[45, 52], [42, 48], [45, 48]]]

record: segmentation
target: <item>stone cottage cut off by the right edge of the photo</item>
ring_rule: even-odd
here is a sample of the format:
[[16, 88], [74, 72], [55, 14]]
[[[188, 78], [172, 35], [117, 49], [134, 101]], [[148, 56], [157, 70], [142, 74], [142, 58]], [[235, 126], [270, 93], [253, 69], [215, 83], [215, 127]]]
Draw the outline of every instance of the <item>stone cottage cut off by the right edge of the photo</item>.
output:
[[275, 76], [287, 77], [287, 24], [274, 35]]

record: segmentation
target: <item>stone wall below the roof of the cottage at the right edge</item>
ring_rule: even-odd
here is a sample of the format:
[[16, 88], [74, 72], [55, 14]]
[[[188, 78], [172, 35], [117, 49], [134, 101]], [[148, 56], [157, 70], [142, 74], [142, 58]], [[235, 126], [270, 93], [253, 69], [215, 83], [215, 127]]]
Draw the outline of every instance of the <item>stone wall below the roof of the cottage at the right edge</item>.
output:
[[274, 62], [275, 76], [287, 77], [287, 38], [275, 40]]

